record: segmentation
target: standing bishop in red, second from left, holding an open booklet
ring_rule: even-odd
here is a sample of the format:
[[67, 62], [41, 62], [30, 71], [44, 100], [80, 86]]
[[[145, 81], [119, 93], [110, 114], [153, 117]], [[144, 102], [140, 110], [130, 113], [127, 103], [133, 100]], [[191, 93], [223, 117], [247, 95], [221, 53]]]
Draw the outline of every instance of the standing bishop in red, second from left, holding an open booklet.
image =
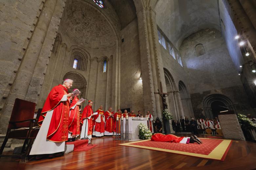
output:
[[[78, 89], [74, 89], [73, 92]], [[81, 103], [78, 102], [78, 96], [79, 94], [76, 94], [74, 96], [74, 99], [72, 100], [72, 103], [70, 104], [70, 112], [69, 112], [69, 136], [68, 136], [68, 142], [75, 141], [75, 137], [77, 137], [80, 134], [80, 106]]]

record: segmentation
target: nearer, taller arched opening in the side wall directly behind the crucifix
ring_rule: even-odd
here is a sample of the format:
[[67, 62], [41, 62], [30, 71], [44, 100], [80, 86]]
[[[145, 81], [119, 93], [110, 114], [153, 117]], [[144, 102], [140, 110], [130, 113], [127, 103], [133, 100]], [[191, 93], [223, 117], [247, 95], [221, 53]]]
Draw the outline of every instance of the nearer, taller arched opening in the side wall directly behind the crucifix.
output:
[[163, 68], [164, 71], [164, 78], [166, 84], [166, 90], [169, 93], [168, 95], [168, 109], [170, 113], [173, 115], [174, 120], [178, 120], [181, 115], [181, 107], [179, 102], [178, 96], [178, 89], [176, 87], [176, 83], [174, 81], [173, 76], [171, 73], [166, 69]]

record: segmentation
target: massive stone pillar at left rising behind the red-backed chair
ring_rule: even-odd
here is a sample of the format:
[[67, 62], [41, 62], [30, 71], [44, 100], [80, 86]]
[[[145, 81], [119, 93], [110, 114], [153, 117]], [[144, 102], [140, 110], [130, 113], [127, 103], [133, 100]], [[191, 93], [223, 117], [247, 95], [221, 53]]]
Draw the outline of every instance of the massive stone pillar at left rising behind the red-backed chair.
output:
[[[7, 129], [15, 98], [25, 99], [30, 86], [40, 87], [40, 83], [42, 83], [40, 80], [43, 80], [46, 73], [46, 63], [48, 63], [53, 49], [54, 37], [64, 6], [64, 0], [47, 0], [41, 9], [40, 15], [37, 16], [37, 23], [34, 30], [31, 30], [32, 36], [28, 38], [30, 39], [28, 46], [24, 48], [25, 53], [20, 58], [22, 60], [20, 67], [12, 84], [6, 105], [2, 110], [0, 133], [5, 133]], [[43, 64], [43, 66], [38, 65], [38, 63]], [[32, 77], [37, 75], [40, 75], [38, 76], [40, 78], [32, 81]], [[34, 101], [33, 98], [36, 96], [37, 100], [37, 90], [33, 91], [32, 96], [27, 99]]]

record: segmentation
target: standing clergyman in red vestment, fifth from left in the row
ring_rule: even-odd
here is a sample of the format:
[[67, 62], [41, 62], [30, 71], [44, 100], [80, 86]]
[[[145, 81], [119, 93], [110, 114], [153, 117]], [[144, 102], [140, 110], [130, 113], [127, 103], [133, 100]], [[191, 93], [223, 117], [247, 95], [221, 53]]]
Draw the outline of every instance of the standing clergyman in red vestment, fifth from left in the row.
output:
[[105, 131], [104, 135], [113, 135], [114, 130], [114, 121], [113, 121], [113, 115], [112, 108], [108, 108], [108, 110], [104, 113], [105, 116]]

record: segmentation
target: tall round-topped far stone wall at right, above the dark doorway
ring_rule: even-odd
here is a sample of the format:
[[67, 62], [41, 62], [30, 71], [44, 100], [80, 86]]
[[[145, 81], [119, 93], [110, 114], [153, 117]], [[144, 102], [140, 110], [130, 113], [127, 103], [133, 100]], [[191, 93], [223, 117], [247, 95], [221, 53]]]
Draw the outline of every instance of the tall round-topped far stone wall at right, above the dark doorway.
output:
[[[205, 54], [197, 57], [195, 46], [203, 44]], [[198, 31], [186, 38], [180, 48], [195, 116], [205, 114], [203, 100], [210, 94], [223, 94], [237, 112], [252, 113], [237, 69], [226, 43], [216, 29]], [[229, 106], [227, 106], [229, 107]]]

